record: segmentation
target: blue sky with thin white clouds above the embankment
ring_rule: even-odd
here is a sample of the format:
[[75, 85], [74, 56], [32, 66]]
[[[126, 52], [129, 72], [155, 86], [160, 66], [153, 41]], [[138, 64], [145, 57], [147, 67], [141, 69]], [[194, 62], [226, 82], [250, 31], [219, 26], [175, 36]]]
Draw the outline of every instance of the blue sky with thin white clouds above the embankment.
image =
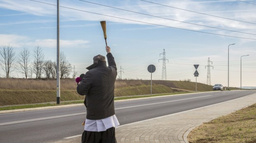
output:
[[[206, 84], [212, 66], [211, 85], [256, 86], [255, 13], [256, 0], [59, 0], [60, 51], [77, 76], [85, 73], [93, 56], [107, 55], [100, 25], [106, 21], [122, 79], [151, 80], [147, 67], [154, 65], [152, 80], [166, 69], [169, 81]], [[6, 45], [16, 54], [40, 46], [55, 61], [57, 0], [0, 0], [0, 48]]]

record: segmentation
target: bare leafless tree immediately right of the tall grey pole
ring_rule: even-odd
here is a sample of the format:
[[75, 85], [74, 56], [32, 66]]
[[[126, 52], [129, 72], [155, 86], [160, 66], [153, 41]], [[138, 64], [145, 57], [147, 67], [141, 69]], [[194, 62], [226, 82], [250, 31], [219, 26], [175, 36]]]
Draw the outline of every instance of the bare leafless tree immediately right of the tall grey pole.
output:
[[66, 55], [64, 55], [63, 52], [60, 53], [60, 56], [59, 56], [59, 63], [60, 63], [60, 66], [59, 66], [59, 71], [60, 71], [60, 78], [67, 78], [70, 74], [71, 74], [71, 71], [72, 71], [72, 66], [71, 64], [69, 63], [68, 60], [66, 60]]

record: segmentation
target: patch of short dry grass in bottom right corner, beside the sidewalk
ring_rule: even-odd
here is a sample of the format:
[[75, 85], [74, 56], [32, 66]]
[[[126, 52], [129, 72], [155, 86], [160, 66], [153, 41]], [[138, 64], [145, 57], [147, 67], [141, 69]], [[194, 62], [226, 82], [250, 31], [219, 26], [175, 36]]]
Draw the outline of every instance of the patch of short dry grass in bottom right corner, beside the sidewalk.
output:
[[256, 143], [256, 104], [204, 123], [187, 139], [190, 143]]

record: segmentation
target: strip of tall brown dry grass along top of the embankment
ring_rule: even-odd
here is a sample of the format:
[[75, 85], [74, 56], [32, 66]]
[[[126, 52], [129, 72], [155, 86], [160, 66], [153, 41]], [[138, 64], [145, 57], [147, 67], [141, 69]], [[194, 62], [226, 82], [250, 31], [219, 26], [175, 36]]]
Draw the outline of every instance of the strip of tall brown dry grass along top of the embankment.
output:
[[[128, 86], [150, 85], [150, 80], [124, 79], [116, 80], [115, 88]], [[184, 90], [195, 90], [195, 83], [188, 81], [161, 81], [153, 80], [153, 84], [165, 85], [169, 88], [179, 88]], [[21, 90], [55, 90], [56, 79], [24, 79], [24, 78], [0, 78], [0, 89], [21, 89]], [[76, 82], [73, 78], [60, 79], [61, 90], [75, 90]], [[238, 88], [237, 88], [238, 89]], [[211, 91], [212, 86], [197, 83], [197, 91]]]

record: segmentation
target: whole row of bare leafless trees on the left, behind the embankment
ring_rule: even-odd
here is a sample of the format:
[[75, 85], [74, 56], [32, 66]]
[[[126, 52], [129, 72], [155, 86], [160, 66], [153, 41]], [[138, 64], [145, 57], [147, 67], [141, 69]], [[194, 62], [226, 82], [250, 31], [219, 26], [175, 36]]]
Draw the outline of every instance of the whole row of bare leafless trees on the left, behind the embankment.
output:
[[[57, 78], [57, 62], [46, 60], [39, 45], [33, 49], [32, 53], [27, 48], [15, 53], [12, 46], [2, 46], [0, 65], [6, 78], [10, 78], [13, 71], [23, 74], [24, 78]], [[60, 78], [76, 76], [75, 73], [72, 74], [72, 66], [63, 51], [59, 55], [59, 76]]]

